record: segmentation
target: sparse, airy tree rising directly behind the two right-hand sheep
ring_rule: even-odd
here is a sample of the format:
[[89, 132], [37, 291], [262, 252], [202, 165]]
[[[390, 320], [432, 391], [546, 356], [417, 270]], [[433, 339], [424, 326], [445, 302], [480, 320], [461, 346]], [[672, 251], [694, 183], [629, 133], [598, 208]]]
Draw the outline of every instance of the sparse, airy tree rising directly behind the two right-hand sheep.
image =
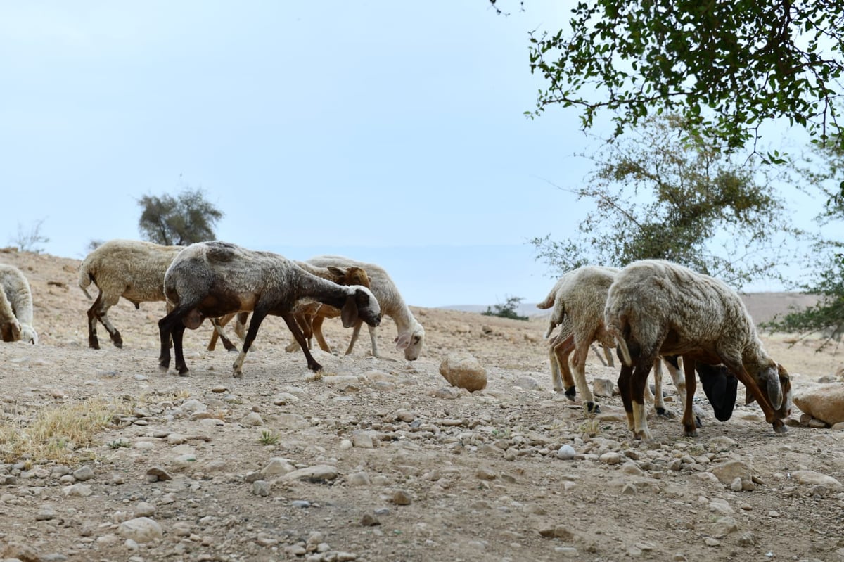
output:
[[582, 219], [581, 235], [533, 240], [553, 269], [662, 258], [737, 286], [782, 278], [778, 266], [788, 255], [780, 240], [802, 233], [771, 194], [765, 170], [733, 165], [688, 132], [681, 116], [648, 117], [592, 159], [584, 186], [571, 190], [596, 206]]

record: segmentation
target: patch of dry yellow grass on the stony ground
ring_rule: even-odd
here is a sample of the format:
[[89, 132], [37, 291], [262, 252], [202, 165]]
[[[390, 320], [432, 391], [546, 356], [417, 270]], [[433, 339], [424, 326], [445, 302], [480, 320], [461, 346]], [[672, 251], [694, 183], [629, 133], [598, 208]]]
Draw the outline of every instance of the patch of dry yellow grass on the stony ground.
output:
[[28, 464], [88, 460], [92, 453], [85, 450], [122, 413], [127, 413], [127, 406], [90, 398], [40, 409], [34, 419], [0, 421], [0, 458]]

